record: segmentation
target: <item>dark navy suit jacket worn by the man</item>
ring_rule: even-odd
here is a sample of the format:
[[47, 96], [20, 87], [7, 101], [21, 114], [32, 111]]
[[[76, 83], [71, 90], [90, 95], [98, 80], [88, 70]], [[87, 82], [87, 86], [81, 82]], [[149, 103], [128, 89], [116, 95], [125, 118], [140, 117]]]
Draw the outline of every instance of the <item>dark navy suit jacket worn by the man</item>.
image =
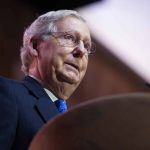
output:
[[0, 77], [0, 150], [27, 150], [39, 128], [58, 113], [33, 78]]

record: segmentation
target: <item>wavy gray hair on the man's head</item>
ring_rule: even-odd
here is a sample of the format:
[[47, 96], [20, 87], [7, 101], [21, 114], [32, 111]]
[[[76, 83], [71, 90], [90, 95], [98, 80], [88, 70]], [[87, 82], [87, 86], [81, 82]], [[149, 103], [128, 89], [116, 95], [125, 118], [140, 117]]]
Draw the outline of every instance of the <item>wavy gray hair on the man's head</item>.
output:
[[40, 38], [45, 40], [47, 34], [56, 32], [56, 22], [68, 16], [73, 16], [83, 22], [85, 20], [74, 10], [58, 10], [50, 11], [39, 16], [24, 32], [23, 46], [20, 49], [20, 57], [22, 61], [22, 71], [28, 74], [29, 65], [35, 56], [35, 50], [30, 46], [33, 38]]

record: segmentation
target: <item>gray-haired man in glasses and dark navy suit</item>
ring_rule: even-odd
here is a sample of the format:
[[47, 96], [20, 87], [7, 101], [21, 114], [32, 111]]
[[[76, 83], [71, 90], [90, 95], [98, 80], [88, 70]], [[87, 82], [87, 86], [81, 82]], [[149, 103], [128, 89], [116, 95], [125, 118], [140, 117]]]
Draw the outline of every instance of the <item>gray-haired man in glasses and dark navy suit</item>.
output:
[[41, 15], [25, 30], [25, 79], [0, 78], [0, 149], [28, 149], [41, 126], [59, 114], [54, 102], [67, 100], [80, 84], [95, 50], [91, 43], [85, 20], [71, 10]]

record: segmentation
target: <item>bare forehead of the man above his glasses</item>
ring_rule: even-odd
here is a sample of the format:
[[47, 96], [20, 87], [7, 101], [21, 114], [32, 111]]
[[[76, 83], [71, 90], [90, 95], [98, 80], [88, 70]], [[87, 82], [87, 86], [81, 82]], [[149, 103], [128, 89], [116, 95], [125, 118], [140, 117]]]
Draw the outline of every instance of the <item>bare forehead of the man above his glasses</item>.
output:
[[58, 32], [72, 31], [80, 37], [90, 39], [90, 31], [87, 24], [75, 17], [65, 17], [56, 23]]

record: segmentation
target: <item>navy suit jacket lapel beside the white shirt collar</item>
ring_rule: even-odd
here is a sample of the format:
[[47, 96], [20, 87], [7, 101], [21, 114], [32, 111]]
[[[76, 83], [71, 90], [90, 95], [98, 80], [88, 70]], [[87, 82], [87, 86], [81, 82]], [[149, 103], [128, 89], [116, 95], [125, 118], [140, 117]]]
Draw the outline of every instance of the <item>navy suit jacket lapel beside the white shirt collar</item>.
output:
[[29, 90], [29, 93], [37, 98], [37, 102], [35, 103], [36, 111], [44, 122], [47, 122], [59, 113], [55, 104], [49, 98], [41, 84], [35, 79], [26, 76], [23, 80], [23, 84]]

